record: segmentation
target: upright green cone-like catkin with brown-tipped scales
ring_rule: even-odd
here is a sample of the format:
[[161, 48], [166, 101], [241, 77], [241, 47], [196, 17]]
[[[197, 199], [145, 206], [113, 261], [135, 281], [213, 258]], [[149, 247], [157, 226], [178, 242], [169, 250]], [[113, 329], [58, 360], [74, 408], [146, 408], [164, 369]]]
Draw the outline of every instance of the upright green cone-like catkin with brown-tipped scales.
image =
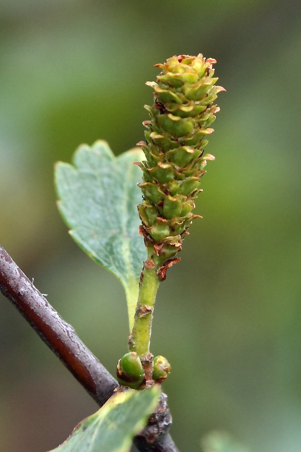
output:
[[138, 184], [143, 202], [138, 205], [148, 256], [153, 256], [158, 276], [163, 280], [167, 269], [178, 262], [176, 255], [188, 234], [200, 179], [205, 174], [206, 139], [219, 107], [213, 102], [225, 89], [215, 85], [213, 58], [179, 55], [164, 64], [156, 82], [146, 82], [154, 89], [154, 105], [145, 105], [150, 121], [144, 121], [146, 142], [139, 142], [146, 160], [137, 163], [143, 171]]

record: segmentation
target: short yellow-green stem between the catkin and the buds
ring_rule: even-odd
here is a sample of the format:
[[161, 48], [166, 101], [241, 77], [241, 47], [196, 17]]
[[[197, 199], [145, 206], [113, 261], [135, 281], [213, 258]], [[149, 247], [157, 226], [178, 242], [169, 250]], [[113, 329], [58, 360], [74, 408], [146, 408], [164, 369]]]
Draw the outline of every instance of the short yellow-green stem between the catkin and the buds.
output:
[[[153, 250], [152, 250], [153, 252]], [[149, 354], [150, 335], [152, 334], [153, 311], [161, 279], [157, 275], [160, 262], [158, 257], [148, 252], [144, 262], [139, 296], [134, 316], [134, 325], [129, 336], [129, 351], [136, 352], [141, 361]]]

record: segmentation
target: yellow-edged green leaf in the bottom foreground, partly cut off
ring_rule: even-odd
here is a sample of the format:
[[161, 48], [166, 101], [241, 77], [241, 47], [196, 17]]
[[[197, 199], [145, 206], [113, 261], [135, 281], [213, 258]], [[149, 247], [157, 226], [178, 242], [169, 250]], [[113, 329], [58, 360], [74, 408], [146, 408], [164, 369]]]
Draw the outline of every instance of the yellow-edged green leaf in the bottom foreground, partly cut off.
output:
[[156, 410], [159, 386], [113, 395], [92, 416], [81, 421], [63, 444], [52, 452], [128, 452], [132, 438]]

